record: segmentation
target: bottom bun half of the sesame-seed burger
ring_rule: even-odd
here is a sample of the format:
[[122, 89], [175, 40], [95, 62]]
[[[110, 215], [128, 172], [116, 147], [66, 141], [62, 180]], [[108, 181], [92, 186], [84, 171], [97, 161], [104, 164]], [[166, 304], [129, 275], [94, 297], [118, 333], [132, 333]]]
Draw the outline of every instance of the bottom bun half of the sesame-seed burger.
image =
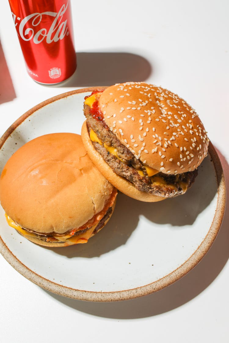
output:
[[125, 178], [114, 173], [112, 168], [108, 166], [108, 164], [104, 161], [98, 151], [95, 150], [89, 136], [86, 121], [84, 121], [81, 129], [81, 139], [94, 165], [99, 169], [100, 173], [119, 191], [133, 199], [140, 201], [156, 202], [166, 199], [164, 197], [159, 197], [147, 192], [141, 192], [137, 190], [135, 186], [127, 181]]

